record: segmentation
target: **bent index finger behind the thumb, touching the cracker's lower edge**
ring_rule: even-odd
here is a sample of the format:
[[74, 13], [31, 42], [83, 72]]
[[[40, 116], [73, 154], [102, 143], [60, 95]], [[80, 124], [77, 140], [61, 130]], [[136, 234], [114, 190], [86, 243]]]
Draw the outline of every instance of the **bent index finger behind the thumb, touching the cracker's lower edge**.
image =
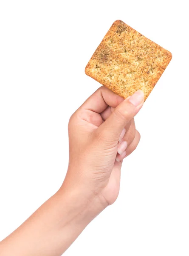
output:
[[80, 108], [102, 113], [108, 106], [116, 108], [122, 101], [124, 101], [123, 98], [113, 93], [113, 91], [107, 89], [105, 86], [102, 86], [96, 90]]

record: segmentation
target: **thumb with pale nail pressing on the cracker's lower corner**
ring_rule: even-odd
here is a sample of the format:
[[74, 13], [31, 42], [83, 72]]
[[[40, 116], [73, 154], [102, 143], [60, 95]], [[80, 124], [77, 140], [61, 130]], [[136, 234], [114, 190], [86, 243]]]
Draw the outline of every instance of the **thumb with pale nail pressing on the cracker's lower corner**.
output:
[[144, 93], [142, 90], [137, 90], [132, 96], [121, 102], [99, 126], [99, 133], [103, 134], [105, 140], [119, 140], [121, 131], [138, 113], [144, 103]]

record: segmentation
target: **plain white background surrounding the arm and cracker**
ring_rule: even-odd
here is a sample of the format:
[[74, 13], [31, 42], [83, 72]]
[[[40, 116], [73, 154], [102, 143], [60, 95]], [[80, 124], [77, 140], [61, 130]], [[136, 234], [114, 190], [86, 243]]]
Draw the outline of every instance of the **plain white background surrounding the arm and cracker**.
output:
[[173, 58], [136, 117], [141, 142], [124, 161], [118, 200], [65, 255], [189, 255], [186, 4], [0, 1], [0, 240], [62, 184], [68, 119], [100, 86], [85, 66], [121, 19]]

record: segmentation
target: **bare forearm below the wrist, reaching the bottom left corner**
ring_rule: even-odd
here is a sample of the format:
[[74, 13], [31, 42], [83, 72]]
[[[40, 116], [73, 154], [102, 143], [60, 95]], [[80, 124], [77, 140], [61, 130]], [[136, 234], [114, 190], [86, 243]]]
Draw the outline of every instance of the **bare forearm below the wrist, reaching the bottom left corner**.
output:
[[62, 187], [0, 243], [3, 256], [60, 256], [104, 209], [99, 198]]

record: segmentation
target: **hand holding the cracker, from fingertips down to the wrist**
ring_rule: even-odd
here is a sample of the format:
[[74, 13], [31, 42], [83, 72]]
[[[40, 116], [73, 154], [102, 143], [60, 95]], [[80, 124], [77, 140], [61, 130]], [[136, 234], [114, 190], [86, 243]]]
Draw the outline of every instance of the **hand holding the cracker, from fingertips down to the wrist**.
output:
[[105, 208], [119, 192], [121, 163], [137, 147], [140, 134], [134, 116], [144, 103], [144, 93], [122, 99], [100, 87], [71, 116], [69, 166], [63, 187], [82, 189], [97, 196]]

